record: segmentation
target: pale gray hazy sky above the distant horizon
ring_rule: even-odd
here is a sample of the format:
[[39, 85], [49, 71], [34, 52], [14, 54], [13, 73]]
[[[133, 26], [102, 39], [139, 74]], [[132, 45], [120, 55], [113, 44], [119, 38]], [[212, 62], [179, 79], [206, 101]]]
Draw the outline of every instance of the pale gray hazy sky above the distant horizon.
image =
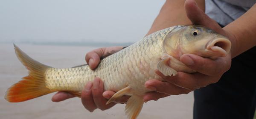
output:
[[164, 0], [0, 0], [0, 42], [135, 42]]

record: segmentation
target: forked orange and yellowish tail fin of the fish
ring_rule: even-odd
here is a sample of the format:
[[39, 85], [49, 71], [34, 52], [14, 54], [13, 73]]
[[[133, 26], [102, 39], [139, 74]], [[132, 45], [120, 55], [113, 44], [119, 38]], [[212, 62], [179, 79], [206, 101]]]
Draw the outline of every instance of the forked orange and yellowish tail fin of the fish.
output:
[[51, 67], [33, 60], [15, 44], [14, 47], [17, 58], [29, 70], [29, 75], [12, 85], [6, 91], [5, 99], [9, 102], [23, 102], [51, 93], [45, 86], [44, 78], [46, 70]]

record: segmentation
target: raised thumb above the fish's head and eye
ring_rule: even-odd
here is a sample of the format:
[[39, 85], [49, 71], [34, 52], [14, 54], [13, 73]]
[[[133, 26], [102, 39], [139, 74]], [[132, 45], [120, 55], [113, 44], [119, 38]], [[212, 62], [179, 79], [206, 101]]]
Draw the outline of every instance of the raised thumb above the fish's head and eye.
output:
[[[223, 29], [213, 19], [207, 16], [202, 9], [200, 9], [195, 0], [186, 0], [185, 9], [187, 17], [193, 24], [204, 25], [217, 33], [224, 33]], [[224, 34], [222, 34], [224, 35]]]

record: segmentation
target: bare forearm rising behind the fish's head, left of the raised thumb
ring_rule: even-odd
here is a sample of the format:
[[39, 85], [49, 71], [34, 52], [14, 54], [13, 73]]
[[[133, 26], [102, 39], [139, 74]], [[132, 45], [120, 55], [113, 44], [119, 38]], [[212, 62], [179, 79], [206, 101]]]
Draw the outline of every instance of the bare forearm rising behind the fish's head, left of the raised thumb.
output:
[[[204, 0], [195, 0], [201, 9], [205, 9]], [[192, 24], [186, 16], [185, 0], [166, 0], [157, 18], [154, 20], [148, 34], [174, 25]]]

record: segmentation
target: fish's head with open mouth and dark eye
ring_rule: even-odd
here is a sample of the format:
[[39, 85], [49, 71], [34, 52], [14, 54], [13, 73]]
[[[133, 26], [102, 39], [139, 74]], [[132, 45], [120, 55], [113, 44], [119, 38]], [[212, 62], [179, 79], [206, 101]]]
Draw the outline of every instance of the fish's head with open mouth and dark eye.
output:
[[227, 37], [201, 25], [183, 25], [174, 28], [163, 43], [168, 55], [179, 58], [190, 53], [204, 58], [225, 57], [231, 49]]

